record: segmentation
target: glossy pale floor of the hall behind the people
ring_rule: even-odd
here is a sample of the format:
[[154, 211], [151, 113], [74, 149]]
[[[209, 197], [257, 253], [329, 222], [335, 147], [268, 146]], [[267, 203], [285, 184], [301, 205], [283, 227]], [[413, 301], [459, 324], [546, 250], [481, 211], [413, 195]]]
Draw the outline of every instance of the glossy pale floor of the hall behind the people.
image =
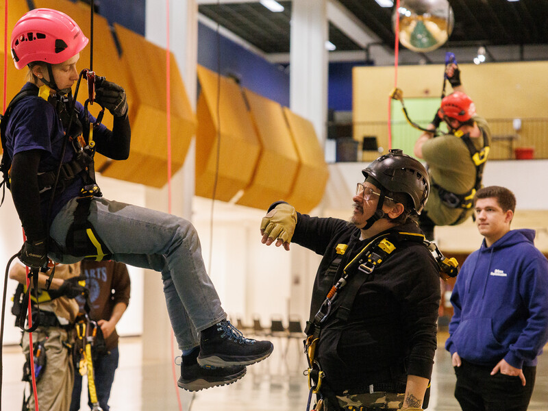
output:
[[[430, 411], [460, 410], [453, 398], [455, 376], [449, 353], [443, 349], [440, 335], [432, 377]], [[307, 379], [305, 360], [300, 354], [301, 341], [273, 338], [272, 356], [248, 367], [247, 375], [230, 386], [202, 390], [195, 395], [176, 389], [171, 364], [143, 364], [140, 338], [122, 338], [120, 366], [112, 388], [112, 411], [306, 411]], [[23, 383], [22, 355], [18, 347], [5, 347], [3, 358], [3, 410], [21, 410]], [[179, 377], [179, 367], [175, 369]], [[84, 401], [83, 401], [84, 402]], [[82, 410], [87, 408], [82, 407]], [[540, 357], [536, 386], [530, 411], [548, 410], [548, 354]], [[47, 410], [42, 410], [47, 411]]]

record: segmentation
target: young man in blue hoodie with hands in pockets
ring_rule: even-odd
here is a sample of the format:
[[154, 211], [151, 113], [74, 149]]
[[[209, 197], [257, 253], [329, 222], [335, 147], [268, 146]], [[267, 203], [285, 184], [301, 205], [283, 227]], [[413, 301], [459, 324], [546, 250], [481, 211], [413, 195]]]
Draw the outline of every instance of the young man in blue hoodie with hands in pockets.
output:
[[460, 269], [445, 343], [463, 411], [527, 410], [548, 340], [548, 261], [534, 230], [510, 230], [515, 207], [514, 194], [499, 186], [474, 198], [484, 241]]

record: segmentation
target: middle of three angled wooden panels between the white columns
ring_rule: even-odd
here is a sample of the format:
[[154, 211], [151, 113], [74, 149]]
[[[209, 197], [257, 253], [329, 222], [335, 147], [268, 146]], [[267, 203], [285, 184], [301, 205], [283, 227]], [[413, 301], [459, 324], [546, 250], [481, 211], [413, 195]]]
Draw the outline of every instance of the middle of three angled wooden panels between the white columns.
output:
[[251, 184], [237, 203], [266, 209], [290, 194], [299, 170], [299, 156], [282, 106], [246, 89], [244, 94], [262, 150]]

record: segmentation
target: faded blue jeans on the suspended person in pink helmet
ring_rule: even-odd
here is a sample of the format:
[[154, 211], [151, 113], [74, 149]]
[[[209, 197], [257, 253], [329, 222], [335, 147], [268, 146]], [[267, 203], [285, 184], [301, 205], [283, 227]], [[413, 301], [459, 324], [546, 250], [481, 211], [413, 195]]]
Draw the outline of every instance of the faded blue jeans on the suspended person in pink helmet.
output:
[[[65, 249], [77, 206], [72, 199], [55, 216], [49, 235]], [[112, 260], [162, 273], [166, 306], [179, 349], [199, 345], [199, 333], [226, 318], [201, 256], [194, 226], [181, 217], [94, 197], [88, 221], [112, 252]], [[49, 256], [71, 263], [82, 258]]]

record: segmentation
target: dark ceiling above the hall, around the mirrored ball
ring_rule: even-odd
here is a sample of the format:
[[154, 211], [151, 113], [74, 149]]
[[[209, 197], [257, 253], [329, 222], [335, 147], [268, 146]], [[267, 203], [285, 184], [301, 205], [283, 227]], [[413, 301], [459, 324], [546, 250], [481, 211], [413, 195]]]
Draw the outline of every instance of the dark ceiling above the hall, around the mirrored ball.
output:
[[[291, 1], [279, 1], [285, 8], [279, 13], [260, 3], [225, 1], [200, 4], [199, 13], [264, 53], [289, 52]], [[375, 33], [384, 47], [394, 49], [393, 8], [382, 8], [375, 0], [338, 2]], [[548, 44], [548, 0], [449, 0], [449, 3], [455, 27], [444, 47]], [[332, 23], [329, 23], [329, 41], [336, 45], [337, 51], [362, 49]]]

